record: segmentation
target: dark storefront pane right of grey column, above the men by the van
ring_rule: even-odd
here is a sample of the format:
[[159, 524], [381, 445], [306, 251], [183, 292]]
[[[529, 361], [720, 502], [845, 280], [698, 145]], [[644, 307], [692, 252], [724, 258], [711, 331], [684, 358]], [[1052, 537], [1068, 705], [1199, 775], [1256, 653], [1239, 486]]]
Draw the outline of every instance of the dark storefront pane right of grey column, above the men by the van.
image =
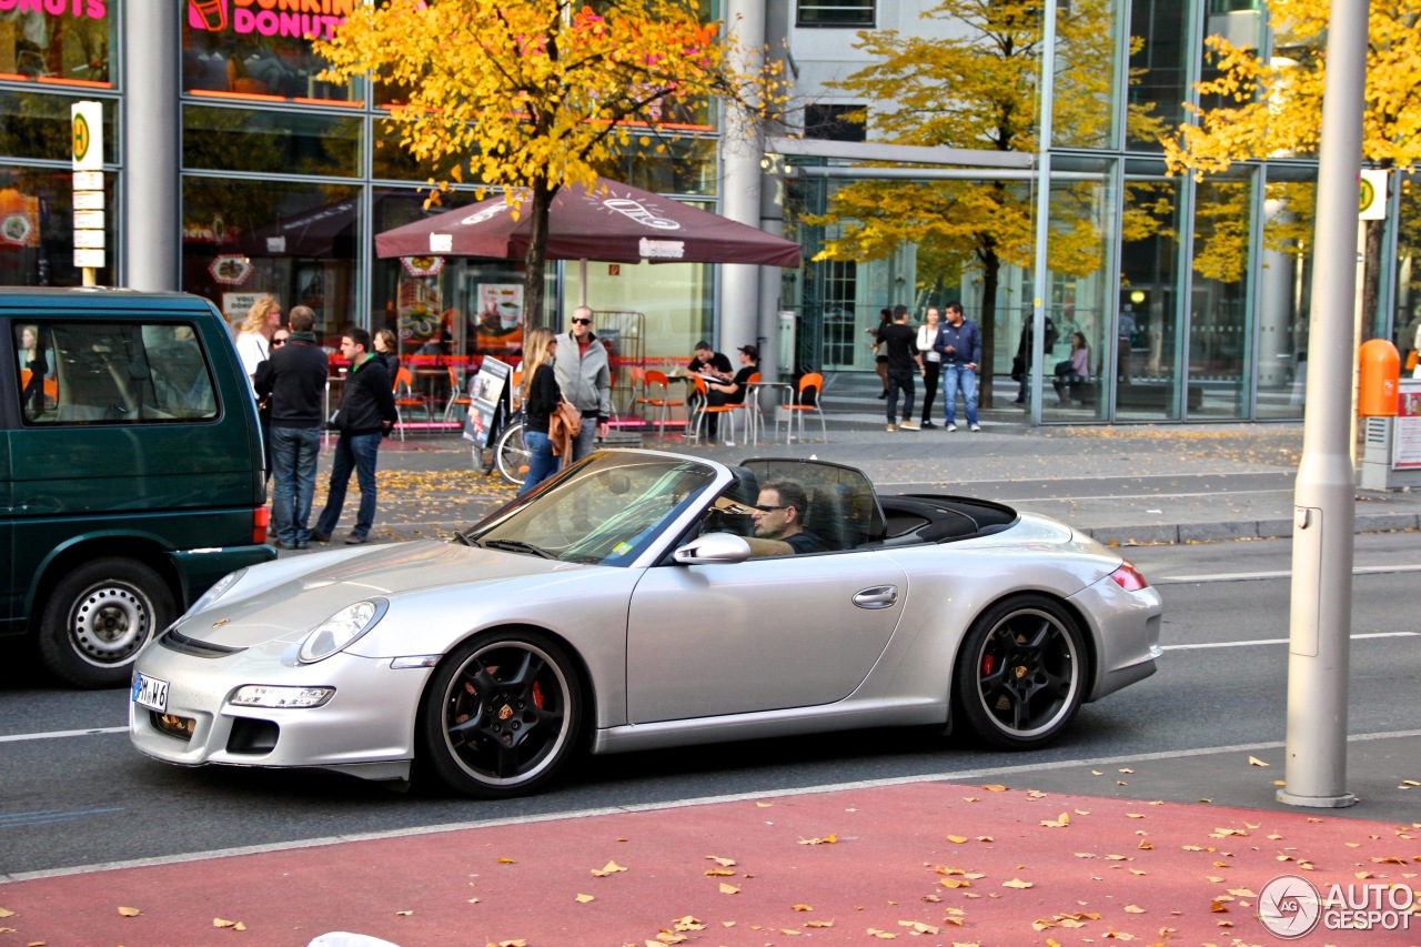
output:
[[240, 324], [261, 296], [315, 310], [323, 346], [355, 311], [361, 189], [225, 178], [183, 179], [182, 287]]

